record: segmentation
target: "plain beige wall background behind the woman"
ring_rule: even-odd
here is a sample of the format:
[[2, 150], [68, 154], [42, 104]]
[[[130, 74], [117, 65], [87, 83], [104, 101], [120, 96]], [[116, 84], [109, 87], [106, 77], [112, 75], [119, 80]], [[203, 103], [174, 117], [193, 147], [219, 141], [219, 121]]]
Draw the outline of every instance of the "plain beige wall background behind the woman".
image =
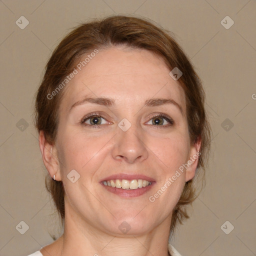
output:
[[[172, 244], [184, 256], [256, 255], [255, 0], [0, 1], [0, 255], [26, 255], [58, 235], [32, 123], [34, 93], [63, 35], [114, 13], [174, 32], [204, 83], [214, 136], [207, 183]], [[24, 29], [15, 24], [21, 15], [29, 21]], [[220, 23], [226, 15], [234, 21], [229, 29]], [[15, 228], [21, 220], [29, 226], [23, 235]], [[226, 232], [234, 226], [229, 234], [220, 228], [226, 220]]]

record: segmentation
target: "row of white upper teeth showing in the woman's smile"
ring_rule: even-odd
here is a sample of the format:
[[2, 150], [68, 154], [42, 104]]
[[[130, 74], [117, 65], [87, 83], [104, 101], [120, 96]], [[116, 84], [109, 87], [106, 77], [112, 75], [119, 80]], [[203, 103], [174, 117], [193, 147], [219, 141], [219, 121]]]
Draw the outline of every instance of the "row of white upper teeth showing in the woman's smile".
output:
[[117, 187], [122, 189], [137, 189], [151, 185], [150, 181], [144, 179], [116, 179], [116, 180], [104, 180], [102, 182], [105, 186]]

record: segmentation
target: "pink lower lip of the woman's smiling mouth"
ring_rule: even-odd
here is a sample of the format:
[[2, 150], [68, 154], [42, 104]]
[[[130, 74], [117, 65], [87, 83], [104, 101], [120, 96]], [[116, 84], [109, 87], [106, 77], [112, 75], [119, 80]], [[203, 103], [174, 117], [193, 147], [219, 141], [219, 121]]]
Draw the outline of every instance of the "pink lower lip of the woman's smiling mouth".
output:
[[122, 189], [122, 188], [117, 188], [117, 187], [106, 186], [102, 183], [101, 184], [102, 184], [102, 186], [104, 186], [104, 188], [107, 191], [117, 194], [120, 197], [127, 198], [127, 197], [136, 197], [136, 196], [146, 193], [149, 189], [151, 189], [151, 187], [153, 186], [154, 183], [155, 182], [152, 182], [151, 185], [137, 188], [137, 189]]

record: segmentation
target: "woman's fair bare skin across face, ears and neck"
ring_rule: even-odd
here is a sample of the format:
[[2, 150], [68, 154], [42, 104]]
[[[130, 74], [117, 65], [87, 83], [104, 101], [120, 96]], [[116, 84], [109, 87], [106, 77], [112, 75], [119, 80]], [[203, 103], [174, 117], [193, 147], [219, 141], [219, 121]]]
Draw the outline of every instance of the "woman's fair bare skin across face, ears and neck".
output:
[[[144, 49], [112, 47], [100, 50], [64, 90], [55, 144], [39, 133], [44, 165], [64, 185], [64, 233], [41, 253], [167, 256], [172, 209], [185, 181], [193, 178], [197, 159], [154, 202], [148, 198], [200, 147], [200, 141], [190, 144], [183, 89], [159, 56]], [[85, 96], [112, 98], [115, 104], [86, 103], [69, 111]], [[144, 106], [146, 99], [156, 97], [175, 100], [183, 114], [174, 104]], [[95, 111], [100, 111], [102, 124], [93, 128], [81, 123]], [[162, 127], [153, 124], [151, 115], [159, 113], [174, 123], [160, 118]], [[123, 118], [131, 123], [127, 131], [118, 127]], [[75, 183], [66, 177], [71, 169], [80, 174]], [[122, 198], [99, 183], [116, 173], [140, 173], [156, 182], [140, 196]], [[131, 227], [126, 234], [118, 228], [123, 221]]]

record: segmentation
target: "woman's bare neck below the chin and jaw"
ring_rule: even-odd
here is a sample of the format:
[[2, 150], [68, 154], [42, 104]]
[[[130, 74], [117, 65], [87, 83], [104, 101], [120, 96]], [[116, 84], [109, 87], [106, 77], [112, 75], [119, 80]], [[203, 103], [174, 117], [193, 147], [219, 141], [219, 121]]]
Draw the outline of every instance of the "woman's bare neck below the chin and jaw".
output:
[[70, 215], [70, 212], [66, 213], [58, 256], [169, 255], [167, 246], [171, 216], [147, 233], [120, 235], [99, 230], [73, 212]]

